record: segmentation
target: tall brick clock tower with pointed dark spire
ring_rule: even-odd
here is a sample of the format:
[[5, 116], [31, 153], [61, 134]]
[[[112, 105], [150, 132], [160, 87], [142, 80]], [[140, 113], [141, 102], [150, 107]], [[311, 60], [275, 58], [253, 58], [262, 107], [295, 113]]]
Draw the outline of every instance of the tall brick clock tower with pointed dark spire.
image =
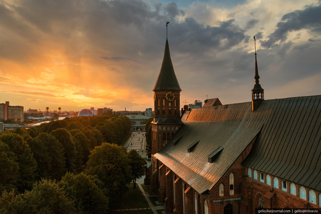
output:
[[152, 122], [152, 154], [162, 149], [183, 124], [179, 117], [179, 87], [166, 39], [163, 63], [154, 91], [155, 117]]

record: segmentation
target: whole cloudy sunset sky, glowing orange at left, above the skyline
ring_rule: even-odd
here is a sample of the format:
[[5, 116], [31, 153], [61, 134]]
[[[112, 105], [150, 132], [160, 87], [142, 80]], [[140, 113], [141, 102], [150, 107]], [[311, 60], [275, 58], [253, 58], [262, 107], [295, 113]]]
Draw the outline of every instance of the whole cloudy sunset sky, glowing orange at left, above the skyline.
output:
[[321, 94], [321, 2], [0, 0], [0, 103], [153, 108], [166, 42], [181, 107]]

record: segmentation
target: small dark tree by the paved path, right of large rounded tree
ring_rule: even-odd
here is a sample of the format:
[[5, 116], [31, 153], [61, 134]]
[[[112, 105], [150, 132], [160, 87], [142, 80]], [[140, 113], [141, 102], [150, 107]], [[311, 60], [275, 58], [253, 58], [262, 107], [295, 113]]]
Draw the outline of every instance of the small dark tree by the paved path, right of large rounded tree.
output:
[[131, 166], [131, 175], [133, 177], [134, 188], [136, 188], [136, 179], [142, 178], [147, 170], [147, 162], [138, 154], [136, 149], [128, 153], [129, 165]]

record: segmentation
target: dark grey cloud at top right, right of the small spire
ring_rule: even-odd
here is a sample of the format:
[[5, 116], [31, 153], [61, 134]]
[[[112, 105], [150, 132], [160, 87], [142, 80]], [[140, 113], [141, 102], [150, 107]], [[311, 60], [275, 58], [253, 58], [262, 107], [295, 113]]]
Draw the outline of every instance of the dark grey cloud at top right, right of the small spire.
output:
[[276, 30], [270, 34], [268, 40], [261, 41], [261, 45], [271, 48], [278, 41], [284, 41], [288, 32], [307, 29], [321, 32], [321, 5], [308, 6], [304, 10], [296, 10], [283, 15], [282, 22], [278, 22]]

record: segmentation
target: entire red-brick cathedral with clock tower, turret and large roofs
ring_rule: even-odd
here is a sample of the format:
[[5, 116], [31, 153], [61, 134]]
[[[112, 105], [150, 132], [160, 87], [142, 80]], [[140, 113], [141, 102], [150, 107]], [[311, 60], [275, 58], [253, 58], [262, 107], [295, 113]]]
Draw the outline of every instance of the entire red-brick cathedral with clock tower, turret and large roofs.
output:
[[182, 90], [166, 40], [144, 180], [166, 213], [321, 208], [321, 95], [265, 100], [256, 54], [254, 78], [250, 102], [213, 99], [179, 115]]

